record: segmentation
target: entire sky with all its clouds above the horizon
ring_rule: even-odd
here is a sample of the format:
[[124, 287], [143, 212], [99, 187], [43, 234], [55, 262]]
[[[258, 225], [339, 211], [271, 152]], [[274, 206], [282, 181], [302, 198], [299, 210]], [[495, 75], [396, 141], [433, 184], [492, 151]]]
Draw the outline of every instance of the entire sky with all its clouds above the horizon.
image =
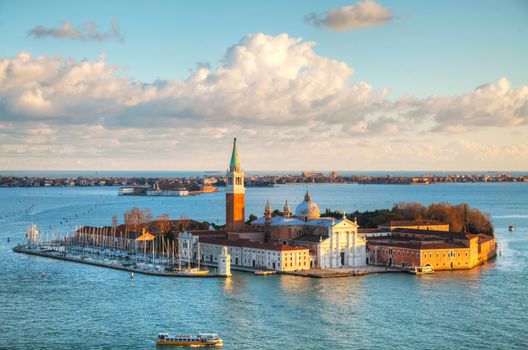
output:
[[528, 170], [526, 1], [0, 0], [1, 170]]

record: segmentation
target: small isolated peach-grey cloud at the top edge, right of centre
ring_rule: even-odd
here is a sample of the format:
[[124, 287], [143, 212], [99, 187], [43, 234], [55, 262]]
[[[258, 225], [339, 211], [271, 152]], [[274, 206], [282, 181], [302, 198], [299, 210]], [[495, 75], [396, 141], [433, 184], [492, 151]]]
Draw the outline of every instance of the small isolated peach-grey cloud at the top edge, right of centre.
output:
[[305, 17], [305, 21], [317, 27], [345, 31], [380, 26], [392, 20], [393, 17], [391, 10], [374, 0], [362, 0], [354, 5], [343, 6], [324, 14], [312, 13]]

